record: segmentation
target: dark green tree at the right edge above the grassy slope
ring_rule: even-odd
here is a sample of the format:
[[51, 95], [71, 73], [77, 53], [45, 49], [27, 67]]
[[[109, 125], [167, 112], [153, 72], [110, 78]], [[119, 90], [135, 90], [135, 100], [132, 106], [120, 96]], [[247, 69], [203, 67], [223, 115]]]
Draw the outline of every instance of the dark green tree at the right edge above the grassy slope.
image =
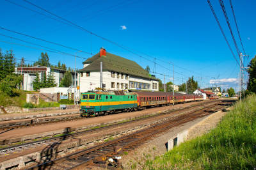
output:
[[249, 68], [247, 70], [249, 79], [247, 89], [250, 92], [256, 93], [256, 56], [250, 61]]

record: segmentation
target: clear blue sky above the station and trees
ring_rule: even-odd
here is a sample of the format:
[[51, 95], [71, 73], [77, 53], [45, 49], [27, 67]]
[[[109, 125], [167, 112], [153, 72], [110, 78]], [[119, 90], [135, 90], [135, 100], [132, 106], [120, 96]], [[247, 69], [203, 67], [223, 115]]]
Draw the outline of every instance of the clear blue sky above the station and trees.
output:
[[[58, 19], [61, 20], [59, 22], [58, 20], [50, 19], [44, 15], [22, 8], [17, 4], [10, 3], [10, 1], [58, 19], [58, 17], [46, 13], [40, 8], [49, 10], [49, 12], [63, 17], [63, 19], [73, 22], [96, 35], [131, 48], [132, 50], [130, 50], [135, 54], [106, 40], [102, 40], [102, 38], [91, 36], [86, 31], [63, 24], [63, 22], [68, 23], [65, 20]], [[228, 45], [214, 19], [207, 0], [29, 1], [40, 6], [40, 8], [36, 8], [26, 1], [10, 1], [1, 1], [1, 27], [72, 48], [68, 49], [0, 29], [0, 34], [13, 37], [6, 38], [6, 36], [0, 35], [0, 40], [4, 41], [0, 42], [1, 49], [3, 51], [13, 49], [16, 58], [24, 57], [26, 60], [36, 61], [40, 53], [44, 52], [44, 50], [40, 49], [45, 49], [45, 47], [72, 55], [76, 53], [74, 49], [97, 54], [100, 47], [103, 46], [108, 52], [136, 61], [143, 68], [147, 65], [150, 66], [152, 74], [162, 79], [162, 81], [163, 74], [166, 75], [166, 82], [170, 81], [168, 79], [172, 80], [173, 67], [168, 62], [173, 62], [175, 65], [175, 84], [186, 82], [188, 77], [194, 75], [198, 81], [202, 77], [201, 85], [203, 88], [212, 86], [212, 83], [214, 83], [214, 86], [217, 84], [217, 86], [222, 88], [237, 87], [239, 66], [232, 56], [230, 49], [228, 49]], [[236, 43], [239, 50], [243, 52], [230, 3], [228, 0], [223, 2]], [[227, 40], [239, 61], [221, 6], [218, 1], [211, 1], [211, 4], [227, 36]], [[249, 55], [250, 62], [250, 59], [256, 54], [256, 49], [253, 48], [256, 42], [254, 9], [256, 1], [232, 0], [232, 4], [243, 47], [246, 54]], [[38, 47], [15, 40], [14, 38], [45, 47]], [[84, 52], [77, 54], [77, 56], [81, 57], [77, 58], [77, 68], [83, 68], [82, 62], [92, 56]], [[47, 53], [52, 65], [57, 65], [58, 61], [61, 61], [61, 63], [74, 68], [73, 56], [54, 52]], [[154, 58], [156, 58], [156, 66], [154, 65]], [[247, 62], [246, 59], [246, 65]]]

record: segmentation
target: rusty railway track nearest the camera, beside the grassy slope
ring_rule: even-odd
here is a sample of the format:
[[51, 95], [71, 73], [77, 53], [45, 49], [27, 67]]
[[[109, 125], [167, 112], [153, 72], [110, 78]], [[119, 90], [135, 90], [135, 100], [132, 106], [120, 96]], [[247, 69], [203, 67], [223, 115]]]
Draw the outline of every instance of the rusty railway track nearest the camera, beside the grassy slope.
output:
[[[99, 144], [97, 146], [93, 146], [92, 148], [88, 148], [83, 151], [78, 151], [76, 153], [72, 153], [65, 157], [57, 158], [55, 160], [45, 162], [44, 164], [39, 164], [38, 166], [31, 167], [29, 169], [54, 169], [54, 170], [62, 170], [62, 169], [81, 169], [84, 166], [99, 166], [104, 167], [106, 169], [113, 169], [106, 165], [106, 160], [109, 158], [114, 158], [115, 156], [120, 156], [120, 152], [116, 152], [114, 147], [121, 148], [121, 153], [127, 150], [133, 150], [134, 148], [138, 148], [141, 144], [147, 143], [150, 141], [152, 137], [156, 135], [160, 135], [161, 132], [168, 130], [173, 127], [177, 127], [184, 123], [188, 123], [189, 121], [196, 120], [198, 118], [202, 118], [204, 116], [210, 115], [213, 112], [218, 111], [225, 107], [225, 104], [210, 105], [207, 108], [202, 108], [197, 111], [189, 112], [187, 114], [182, 114], [179, 117], [175, 117], [171, 120], [164, 121], [162, 123], [158, 123], [153, 125], [152, 127], [145, 128], [143, 130], [139, 130], [138, 132], [134, 132], [129, 135], [125, 135], [124, 137], [120, 137], [113, 141], [109, 141], [106, 143]], [[212, 110], [212, 108], [215, 108]], [[118, 160], [115, 162], [116, 167], [120, 167], [122, 165], [118, 164]]]

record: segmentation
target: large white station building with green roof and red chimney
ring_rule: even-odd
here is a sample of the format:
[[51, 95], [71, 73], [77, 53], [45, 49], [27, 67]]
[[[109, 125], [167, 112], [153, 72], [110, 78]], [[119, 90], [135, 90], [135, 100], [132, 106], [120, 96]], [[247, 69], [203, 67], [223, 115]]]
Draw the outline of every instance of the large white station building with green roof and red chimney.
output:
[[77, 86], [80, 93], [100, 87], [100, 63], [102, 62], [102, 84], [108, 90], [158, 91], [158, 80], [136, 62], [116, 56], [106, 49], [83, 62], [78, 70]]

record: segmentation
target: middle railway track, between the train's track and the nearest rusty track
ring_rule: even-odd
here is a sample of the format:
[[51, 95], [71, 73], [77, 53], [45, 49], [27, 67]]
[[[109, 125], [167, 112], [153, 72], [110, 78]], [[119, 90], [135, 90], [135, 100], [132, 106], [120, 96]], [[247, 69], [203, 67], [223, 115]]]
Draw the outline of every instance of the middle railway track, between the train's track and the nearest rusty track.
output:
[[[218, 102], [218, 104], [219, 103], [220, 102]], [[210, 107], [207, 107], [207, 108], [209, 108], [209, 109], [211, 109], [213, 107], [216, 108], [216, 105], [214, 105], [214, 104], [216, 104], [216, 102], [214, 102]], [[227, 105], [227, 104], [225, 104], [225, 105]], [[203, 107], [203, 106], [198, 106], [197, 108], [200, 108], [200, 107]], [[195, 109], [195, 108], [193, 108], [193, 109]], [[202, 109], [204, 109], [204, 108], [202, 108]], [[200, 110], [202, 110], [202, 109], [200, 109]], [[183, 110], [184, 109], [182, 109], [182, 111]], [[180, 112], [182, 112], [182, 111], [180, 111]], [[189, 111], [189, 109], [188, 109], [188, 112], [193, 112], [193, 111]], [[166, 112], [164, 114], [170, 114], [170, 113], [172, 113], [172, 112]], [[177, 114], [179, 114], [179, 113], [177, 113]], [[34, 148], [36, 146], [43, 146], [45, 144], [48, 145], [48, 144], [53, 144], [53, 143], [60, 143], [63, 140], [73, 139], [73, 138], [80, 137], [80, 136], [83, 136], [83, 135], [95, 134], [95, 133], [102, 132], [104, 130], [115, 129], [115, 128], [124, 127], [124, 126], [127, 126], [127, 125], [133, 125], [133, 124], [138, 123], [140, 121], [157, 120], [161, 116], [163, 116], [163, 114], [156, 114], [154, 116], [149, 116], [147, 118], [140, 118], [140, 119], [137, 119], [137, 120], [130, 120], [130, 121], [122, 122], [122, 123], [116, 123], [116, 124], [108, 125], [108, 126], [105, 126], [105, 127], [99, 127], [99, 128], [93, 128], [93, 129], [90, 129], [90, 130], [81, 131], [81, 132], [75, 132], [73, 134], [70, 134], [70, 132], [67, 132], [67, 134], [64, 134], [64, 135], [61, 135], [61, 136], [58, 136], [58, 137], [51, 137], [49, 139], [42, 139], [42, 140], [39, 140], [39, 141], [33, 141], [33, 142], [29, 142], [29, 143], [23, 143], [23, 144], [17, 144], [17, 145], [14, 145], [14, 146], [9, 146], [9, 147], [6, 147], [6, 148], [0, 148], [0, 155], [5, 155], [6, 153], [13, 153], [13, 152], [16, 152], [16, 151], [27, 150], [29, 148]]]

